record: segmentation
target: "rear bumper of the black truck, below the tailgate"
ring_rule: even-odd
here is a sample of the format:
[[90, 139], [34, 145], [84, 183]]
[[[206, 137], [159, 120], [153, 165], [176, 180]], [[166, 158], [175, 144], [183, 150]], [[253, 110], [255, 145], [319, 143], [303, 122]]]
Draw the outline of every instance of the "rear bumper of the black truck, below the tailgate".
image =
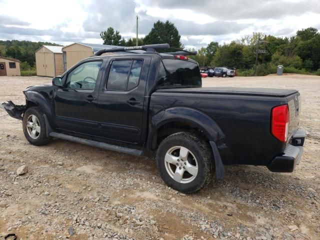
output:
[[305, 131], [299, 129], [292, 136], [291, 144], [287, 144], [284, 152], [280, 156], [276, 156], [267, 165], [267, 168], [273, 172], [292, 172], [295, 165], [299, 164], [304, 143]]

